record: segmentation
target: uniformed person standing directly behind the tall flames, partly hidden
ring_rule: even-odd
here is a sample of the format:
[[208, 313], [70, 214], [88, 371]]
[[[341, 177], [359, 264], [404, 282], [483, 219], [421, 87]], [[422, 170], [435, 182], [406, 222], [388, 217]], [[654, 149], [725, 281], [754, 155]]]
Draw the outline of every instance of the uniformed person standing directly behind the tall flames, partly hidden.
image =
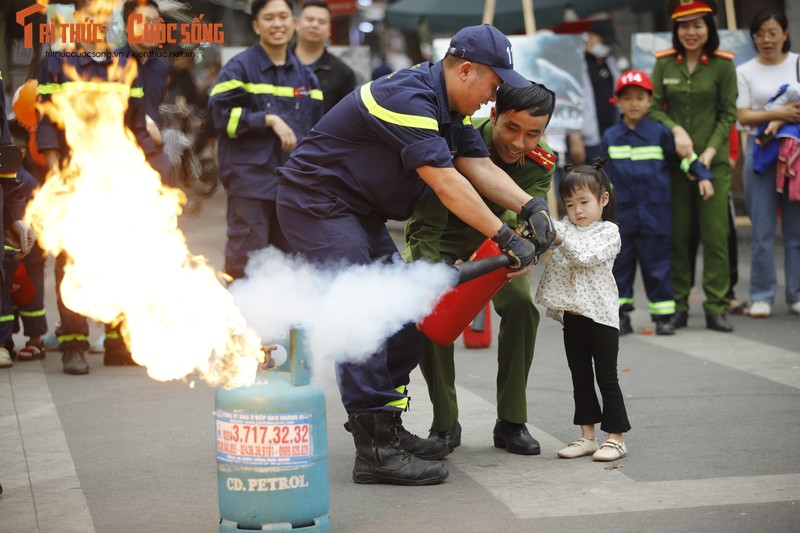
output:
[[[83, 22], [91, 19], [97, 24], [110, 20], [111, 13], [102, 2], [85, 0], [76, 2], [75, 20]], [[145, 113], [142, 107], [144, 95], [141, 87], [132, 87], [126, 83], [124, 71], [131, 58], [111, 54], [107, 42], [83, 43], [66, 50], [68, 54], [46, 57], [39, 71], [39, 85], [36, 89], [37, 102], [47, 104], [52, 95], [61, 91], [86, 92], [86, 98], [91, 98], [97, 91], [108, 90], [113, 87], [129, 95], [128, 108], [125, 111], [125, 125], [136, 137], [145, 154], [160, 153], [160, 148], [155, 146], [145, 125]], [[71, 53], [74, 52], [74, 53]], [[110, 74], [118, 73], [118, 74]], [[111, 79], [110, 75], [118, 76]], [[76, 81], [75, 76], [82, 81]], [[37, 109], [39, 106], [37, 106]], [[50, 172], [59, 169], [62, 163], [70, 157], [70, 146], [62, 126], [56, 124], [47, 114], [37, 112], [36, 140], [39, 151], [44, 155]], [[109, 147], [113, 149], [113, 147]], [[148, 158], [153, 166], [153, 161]], [[157, 169], [156, 169], [157, 170]], [[91, 209], [92, 206], [87, 206]], [[102, 245], [102, 243], [99, 243]], [[64, 267], [68, 257], [62, 252], [56, 257], [56, 303], [61, 325], [56, 329], [56, 337], [61, 350], [61, 360], [65, 374], [88, 374], [89, 364], [85, 354], [89, 349], [89, 323], [86, 317], [75, 313], [64, 305], [61, 299], [61, 280], [64, 278]], [[105, 365], [135, 365], [130, 351], [120, 334], [119, 324], [106, 325], [105, 340], [103, 341]]]

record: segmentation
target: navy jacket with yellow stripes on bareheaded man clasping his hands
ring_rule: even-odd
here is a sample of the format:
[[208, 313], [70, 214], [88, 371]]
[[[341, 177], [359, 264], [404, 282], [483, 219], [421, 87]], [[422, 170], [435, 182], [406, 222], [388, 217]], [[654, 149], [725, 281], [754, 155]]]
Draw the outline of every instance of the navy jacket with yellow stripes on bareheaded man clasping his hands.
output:
[[316, 76], [289, 51], [286, 64], [275, 65], [256, 43], [222, 68], [208, 105], [219, 134], [219, 177], [228, 195], [275, 200], [275, 169], [289, 154], [265, 117], [280, 116], [299, 142], [322, 116]]

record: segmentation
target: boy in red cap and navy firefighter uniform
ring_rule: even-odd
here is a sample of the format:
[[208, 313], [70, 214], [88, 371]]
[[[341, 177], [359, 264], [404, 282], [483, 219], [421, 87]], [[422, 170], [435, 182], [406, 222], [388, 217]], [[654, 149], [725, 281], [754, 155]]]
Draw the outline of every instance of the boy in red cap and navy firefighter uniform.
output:
[[648, 312], [657, 335], [673, 335], [672, 208], [669, 163], [677, 161], [672, 133], [647, 118], [653, 84], [647, 74], [629, 70], [617, 80], [614, 100], [622, 121], [604, 134], [601, 153], [614, 185], [622, 249], [614, 261], [619, 291], [619, 334], [633, 333], [633, 282], [636, 263], [642, 270]]

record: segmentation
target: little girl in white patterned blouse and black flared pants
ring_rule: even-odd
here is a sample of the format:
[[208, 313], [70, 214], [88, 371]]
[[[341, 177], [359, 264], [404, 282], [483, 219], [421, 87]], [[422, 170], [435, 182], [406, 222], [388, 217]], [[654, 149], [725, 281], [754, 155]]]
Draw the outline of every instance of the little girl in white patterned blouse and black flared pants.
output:
[[[547, 316], [564, 324], [575, 399], [573, 423], [581, 427], [581, 437], [559, 450], [559, 457], [592, 455], [595, 461], [616, 461], [628, 453], [622, 434], [631, 425], [617, 379], [619, 293], [612, 267], [622, 241], [614, 222], [611, 185], [602, 170], [604, 162], [596, 158], [592, 165], [566, 167], [558, 192], [567, 217], [555, 223], [558, 236], [536, 291], [536, 303], [547, 308]], [[608, 433], [599, 449], [594, 429], [598, 422]]]

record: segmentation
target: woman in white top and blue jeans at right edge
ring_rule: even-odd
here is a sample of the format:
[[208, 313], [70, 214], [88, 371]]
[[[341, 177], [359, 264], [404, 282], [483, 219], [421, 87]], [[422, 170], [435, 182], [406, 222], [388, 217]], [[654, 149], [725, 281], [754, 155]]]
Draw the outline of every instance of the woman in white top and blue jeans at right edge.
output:
[[[800, 58], [789, 52], [786, 15], [766, 8], [753, 17], [750, 25], [758, 55], [736, 69], [739, 97], [736, 100], [739, 123], [748, 132], [744, 164], [745, 205], [752, 221], [750, 259], [750, 316], [765, 318], [772, 313], [777, 290], [775, 271], [775, 226], [780, 205], [783, 227], [786, 303], [789, 312], [800, 314], [800, 202], [778, 194], [775, 187], [776, 161], [754, 170], [753, 148], [758, 126], [767, 124], [765, 133], [774, 134], [786, 123], [800, 121], [800, 102], [790, 102], [766, 111], [767, 101], [781, 85], [800, 81]], [[758, 141], [760, 142], [760, 141]], [[771, 141], [778, 142], [778, 141]], [[787, 190], [784, 187], [784, 190]]]

